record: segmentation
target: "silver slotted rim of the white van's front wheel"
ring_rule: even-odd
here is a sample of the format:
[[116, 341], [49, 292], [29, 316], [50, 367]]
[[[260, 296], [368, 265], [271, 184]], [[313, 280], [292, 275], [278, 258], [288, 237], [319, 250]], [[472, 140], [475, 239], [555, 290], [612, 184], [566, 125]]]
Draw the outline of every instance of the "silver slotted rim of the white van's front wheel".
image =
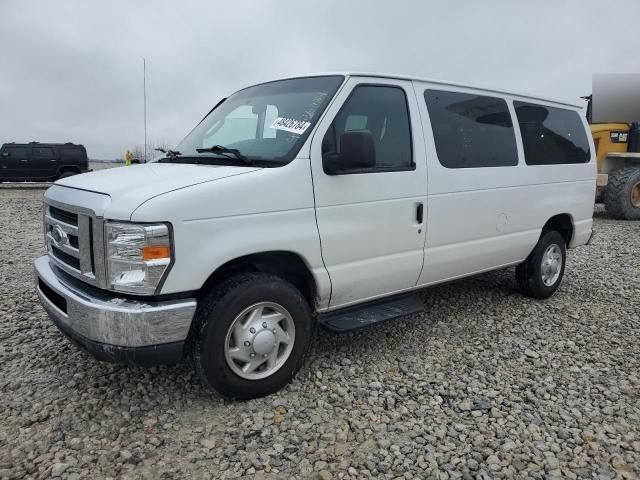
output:
[[260, 302], [245, 308], [231, 322], [224, 343], [229, 368], [241, 378], [260, 380], [287, 361], [295, 341], [295, 324], [282, 305]]

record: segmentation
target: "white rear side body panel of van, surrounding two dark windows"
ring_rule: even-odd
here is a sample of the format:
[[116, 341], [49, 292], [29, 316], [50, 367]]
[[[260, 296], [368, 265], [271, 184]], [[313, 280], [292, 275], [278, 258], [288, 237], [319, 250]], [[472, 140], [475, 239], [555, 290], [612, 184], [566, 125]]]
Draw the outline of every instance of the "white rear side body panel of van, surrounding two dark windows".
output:
[[[591, 234], [595, 198], [595, 158], [572, 165], [526, 165], [513, 95], [414, 82], [416, 96], [426, 89], [496, 96], [506, 100], [516, 132], [518, 165], [445, 168], [438, 160], [424, 100], [428, 164], [427, 241], [419, 285], [430, 285], [522, 262], [535, 246], [546, 221], [569, 214], [577, 236], [571, 246]], [[549, 102], [537, 103], [550, 105]], [[586, 123], [585, 123], [586, 125]], [[588, 135], [591, 141], [591, 136]]]

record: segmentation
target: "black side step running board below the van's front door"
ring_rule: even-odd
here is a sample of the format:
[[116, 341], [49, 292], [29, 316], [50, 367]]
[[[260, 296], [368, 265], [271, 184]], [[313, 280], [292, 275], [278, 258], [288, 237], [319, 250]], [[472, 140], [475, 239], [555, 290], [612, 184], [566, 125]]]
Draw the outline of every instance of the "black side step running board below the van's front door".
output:
[[424, 304], [415, 294], [374, 300], [335, 312], [321, 313], [318, 323], [331, 332], [348, 332], [374, 323], [423, 312]]

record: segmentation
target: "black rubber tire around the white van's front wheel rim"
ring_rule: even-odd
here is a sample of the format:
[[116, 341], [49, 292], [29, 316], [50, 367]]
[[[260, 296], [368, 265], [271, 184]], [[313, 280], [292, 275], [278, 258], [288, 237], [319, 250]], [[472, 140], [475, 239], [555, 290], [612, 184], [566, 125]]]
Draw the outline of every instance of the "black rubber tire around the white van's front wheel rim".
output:
[[[246, 379], [228, 364], [225, 343], [236, 317], [260, 302], [284, 307], [293, 320], [295, 337], [291, 353], [273, 374]], [[284, 387], [302, 366], [311, 339], [312, 316], [306, 299], [292, 284], [271, 274], [244, 273], [229, 278], [201, 300], [194, 320], [196, 330], [189, 352], [192, 363], [207, 384], [231, 399], [263, 397]]]

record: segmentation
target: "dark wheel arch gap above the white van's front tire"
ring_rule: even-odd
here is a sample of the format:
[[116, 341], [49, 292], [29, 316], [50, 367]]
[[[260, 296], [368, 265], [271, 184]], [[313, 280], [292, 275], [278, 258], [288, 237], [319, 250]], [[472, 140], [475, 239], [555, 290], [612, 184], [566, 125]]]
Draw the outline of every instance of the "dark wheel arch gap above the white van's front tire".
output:
[[314, 309], [318, 299], [316, 279], [301, 255], [286, 250], [251, 253], [227, 261], [209, 275], [196, 296], [201, 298], [227, 278], [247, 272], [271, 273], [291, 282]]

